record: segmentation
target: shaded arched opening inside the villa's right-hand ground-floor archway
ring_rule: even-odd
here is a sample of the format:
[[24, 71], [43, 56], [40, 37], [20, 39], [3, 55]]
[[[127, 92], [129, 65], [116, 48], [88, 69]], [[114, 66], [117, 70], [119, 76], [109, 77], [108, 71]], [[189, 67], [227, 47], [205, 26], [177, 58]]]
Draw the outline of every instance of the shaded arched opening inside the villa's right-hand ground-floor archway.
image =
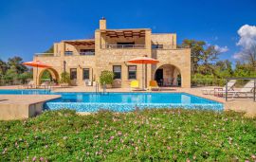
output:
[[173, 64], [163, 64], [155, 70], [155, 81], [159, 86], [181, 86], [180, 70]]

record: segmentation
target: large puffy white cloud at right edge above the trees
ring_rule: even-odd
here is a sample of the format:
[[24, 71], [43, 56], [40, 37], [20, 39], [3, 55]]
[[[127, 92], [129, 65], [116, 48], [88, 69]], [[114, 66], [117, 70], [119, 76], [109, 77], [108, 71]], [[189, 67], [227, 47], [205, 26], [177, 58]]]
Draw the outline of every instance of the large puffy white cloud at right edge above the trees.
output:
[[236, 45], [241, 46], [240, 51], [233, 55], [234, 59], [241, 59], [247, 49], [251, 49], [256, 45], [256, 26], [244, 25], [237, 31], [240, 39]]

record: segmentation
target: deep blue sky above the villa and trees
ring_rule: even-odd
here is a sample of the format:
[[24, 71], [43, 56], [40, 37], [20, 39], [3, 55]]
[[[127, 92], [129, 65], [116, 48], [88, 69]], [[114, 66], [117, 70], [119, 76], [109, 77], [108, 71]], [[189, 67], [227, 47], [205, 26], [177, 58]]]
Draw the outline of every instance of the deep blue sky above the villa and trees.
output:
[[0, 0], [0, 59], [31, 61], [53, 43], [92, 38], [102, 16], [107, 28], [176, 33], [178, 44], [205, 41], [231, 62], [256, 42], [256, 0]]

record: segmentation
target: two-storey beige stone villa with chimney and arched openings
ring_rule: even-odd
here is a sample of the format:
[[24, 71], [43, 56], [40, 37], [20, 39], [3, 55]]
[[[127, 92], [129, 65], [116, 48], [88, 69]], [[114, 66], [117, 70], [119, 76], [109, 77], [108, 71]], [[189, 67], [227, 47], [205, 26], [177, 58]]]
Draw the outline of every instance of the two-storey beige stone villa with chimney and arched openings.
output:
[[118, 82], [114, 86], [129, 87], [132, 80], [141, 84], [142, 65], [127, 61], [141, 56], [159, 61], [145, 65], [146, 86], [155, 80], [163, 86], [191, 87], [191, 49], [176, 45], [175, 33], [152, 33], [150, 28], [108, 29], [104, 18], [94, 39], [55, 43], [54, 53], [35, 54], [34, 60], [51, 65], [39, 69], [39, 79], [48, 70], [58, 81], [67, 71], [73, 85], [84, 85], [85, 81], [99, 81], [101, 71], [110, 70]]

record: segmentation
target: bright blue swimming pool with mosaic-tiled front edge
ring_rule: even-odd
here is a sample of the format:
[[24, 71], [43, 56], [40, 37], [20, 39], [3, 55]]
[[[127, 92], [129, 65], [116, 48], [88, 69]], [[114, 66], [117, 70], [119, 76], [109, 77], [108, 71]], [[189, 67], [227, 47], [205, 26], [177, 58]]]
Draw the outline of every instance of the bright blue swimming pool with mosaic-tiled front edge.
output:
[[144, 108], [202, 108], [223, 110], [223, 104], [210, 99], [203, 99], [187, 93], [61, 93], [45, 90], [0, 90], [0, 94], [13, 95], [61, 95], [61, 99], [49, 100], [45, 108], [57, 110], [74, 109], [78, 112], [97, 112], [107, 109], [116, 112], [134, 111]]

